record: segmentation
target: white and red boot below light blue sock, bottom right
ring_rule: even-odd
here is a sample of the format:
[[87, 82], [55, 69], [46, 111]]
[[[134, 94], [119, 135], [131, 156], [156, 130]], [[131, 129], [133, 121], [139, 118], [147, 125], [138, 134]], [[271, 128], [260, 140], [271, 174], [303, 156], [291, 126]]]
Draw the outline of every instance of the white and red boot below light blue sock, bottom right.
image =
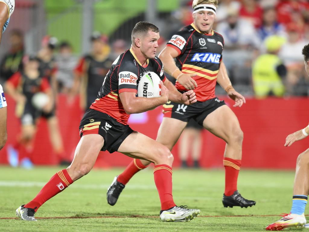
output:
[[287, 227], [303, 227], [307, 220], [305, 215], [281, 213], [282, 218], [266, 227], [266, 230], [283, 230]]

